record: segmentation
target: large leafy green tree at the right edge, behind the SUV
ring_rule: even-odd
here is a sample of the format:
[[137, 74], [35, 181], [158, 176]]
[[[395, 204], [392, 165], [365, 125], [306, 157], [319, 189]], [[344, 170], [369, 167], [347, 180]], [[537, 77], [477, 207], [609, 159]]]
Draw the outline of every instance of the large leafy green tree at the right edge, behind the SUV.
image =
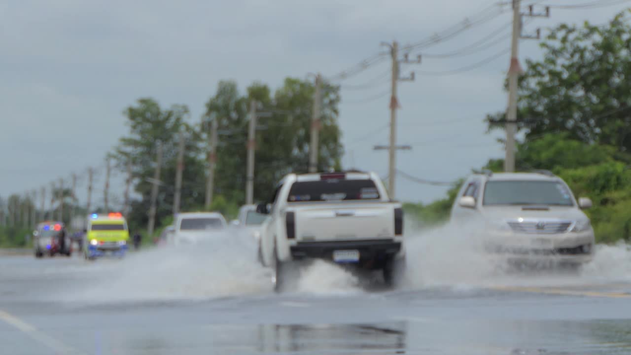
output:
[[543, 60], [527, 60], [519, 80], [518, 127], [526, 130], [526, 141], [567, 132], [585, 143], [631, 149], [630, 11], [605, 25], [562, 24], [550, 31], [541, 43]]

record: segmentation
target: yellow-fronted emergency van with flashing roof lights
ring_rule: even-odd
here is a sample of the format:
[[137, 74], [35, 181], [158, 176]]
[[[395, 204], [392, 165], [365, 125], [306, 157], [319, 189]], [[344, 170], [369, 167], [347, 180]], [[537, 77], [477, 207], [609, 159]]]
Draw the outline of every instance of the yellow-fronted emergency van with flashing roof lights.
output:
[[94, 260], [106, 255], [123, 257], [127, 252], [128, 241], [127, 220], [120, 213], [91, 214], [83, 247], [85, 258]]

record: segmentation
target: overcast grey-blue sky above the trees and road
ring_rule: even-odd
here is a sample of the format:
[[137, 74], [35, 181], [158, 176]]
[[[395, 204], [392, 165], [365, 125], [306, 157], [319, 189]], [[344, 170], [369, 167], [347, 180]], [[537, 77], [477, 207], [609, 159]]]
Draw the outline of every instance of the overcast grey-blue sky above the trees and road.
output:
[[[606, 0], [609, 1], [609, 0]], [[587, 0], [524, 1], [580, 4]], [[252, 81], [278, 87], [286, 76], [320, 72], [334, 76], [383, 50], [380, 42], [402, 45], [427, 40], [470, 16], [494, 16], [483, 25], [423, 54], [416, 81], [399, 85], [398, 167], [418, 178], [452, 181], [503, 157], [501, 132], [485, 133], [485, 114], [505, 109], [502, 82], [509, 63], [509, 9], [488, 8], [490, 0], [137, 0], [0, 2], [0, 195], [50, 186], [80, 174], [85, 190], [88, 166], [103, 157], [127, 130], [122, 110], [139, 97], [163, 107], [186, 104], [198, 120], [220, 80]], [[558, 23], [602, 23], [625, 6], [551, 9], [550, 18], [524, 26], [525, 33]], [[543, 9], [543, 8], [541, 8]], [[484, 11], [483, 11], [484, 10]], [[483, 11], [483, 12], [481, 12]], [[466, 56], [432, 57], [475, 44], [504, 28], [492, 44]], [[487, 42], [485, 42], [487, 43]], [[494, 44], [493, 44], [494, 43]], [[504, 54], [497, 55], [500, 52]], [[519, 58], [536, 59], [538, 41], [521, 40]], [[456, 75], [428, 75], [487, 63]], [[389, 71], [384, 60], [342, 81], [339, 125], [343, 163], [387, 174]], [[369, 85], [364, 85], [364, 84]], [[361, 90], [358, 90], [360, 87]], [[100, 171], [101, 173], [103, 170]], [[112, 199], [121, 198], [122, 174]], [[95, 198], [101, 202], [102, 176]], [[445, 188], [399, 176], [397, 197], [431, 202]], [[85, 194], [80, 195], [85, 198]]]

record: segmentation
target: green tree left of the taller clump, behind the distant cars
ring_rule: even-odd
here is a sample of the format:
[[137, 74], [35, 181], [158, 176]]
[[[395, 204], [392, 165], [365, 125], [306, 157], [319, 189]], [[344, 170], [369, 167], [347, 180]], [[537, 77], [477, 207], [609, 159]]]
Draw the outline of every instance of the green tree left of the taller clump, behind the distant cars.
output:
[[201, 136], [199, 131], [185, 123], [189, 114], [186, 105], [172, 105], [162, 109], [153, 99], [139, 99], [136, 105], [124, 111], [129, 126], [129, 135], [122, 137], [114, 148], [112, 157], [117, 167], [125, 171], [131, 163], [136, 181], [134, 190], [142, 197], [131, 203], [129, 224], [132, 228], [146, 226], [150, 207], [151, 183], [155, 171], [158, 144], [162, 145], [162, 172], [156, 208], [156, 225], [172, 214], [174, 199], [175, 169], [177, 169], [177, 146], [179, 131], [184, 132], [185, 159], [182, 176], [182, 205], [199, 205], [203, 202], [205, 172], [201, 159]]

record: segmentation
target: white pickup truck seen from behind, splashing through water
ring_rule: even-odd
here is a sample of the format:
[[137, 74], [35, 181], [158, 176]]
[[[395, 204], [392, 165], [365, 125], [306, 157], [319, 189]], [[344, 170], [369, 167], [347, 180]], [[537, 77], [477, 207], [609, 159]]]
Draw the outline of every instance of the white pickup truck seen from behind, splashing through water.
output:
[[264, 266], [274, 270], [277, 290], [283, 268], [304, 258], [380, 269], [389, 286], [403, 272], [403, 210], [377, 174], [289, 174], [257, 212], [270, 217], [261, 227], [259, 248]]

